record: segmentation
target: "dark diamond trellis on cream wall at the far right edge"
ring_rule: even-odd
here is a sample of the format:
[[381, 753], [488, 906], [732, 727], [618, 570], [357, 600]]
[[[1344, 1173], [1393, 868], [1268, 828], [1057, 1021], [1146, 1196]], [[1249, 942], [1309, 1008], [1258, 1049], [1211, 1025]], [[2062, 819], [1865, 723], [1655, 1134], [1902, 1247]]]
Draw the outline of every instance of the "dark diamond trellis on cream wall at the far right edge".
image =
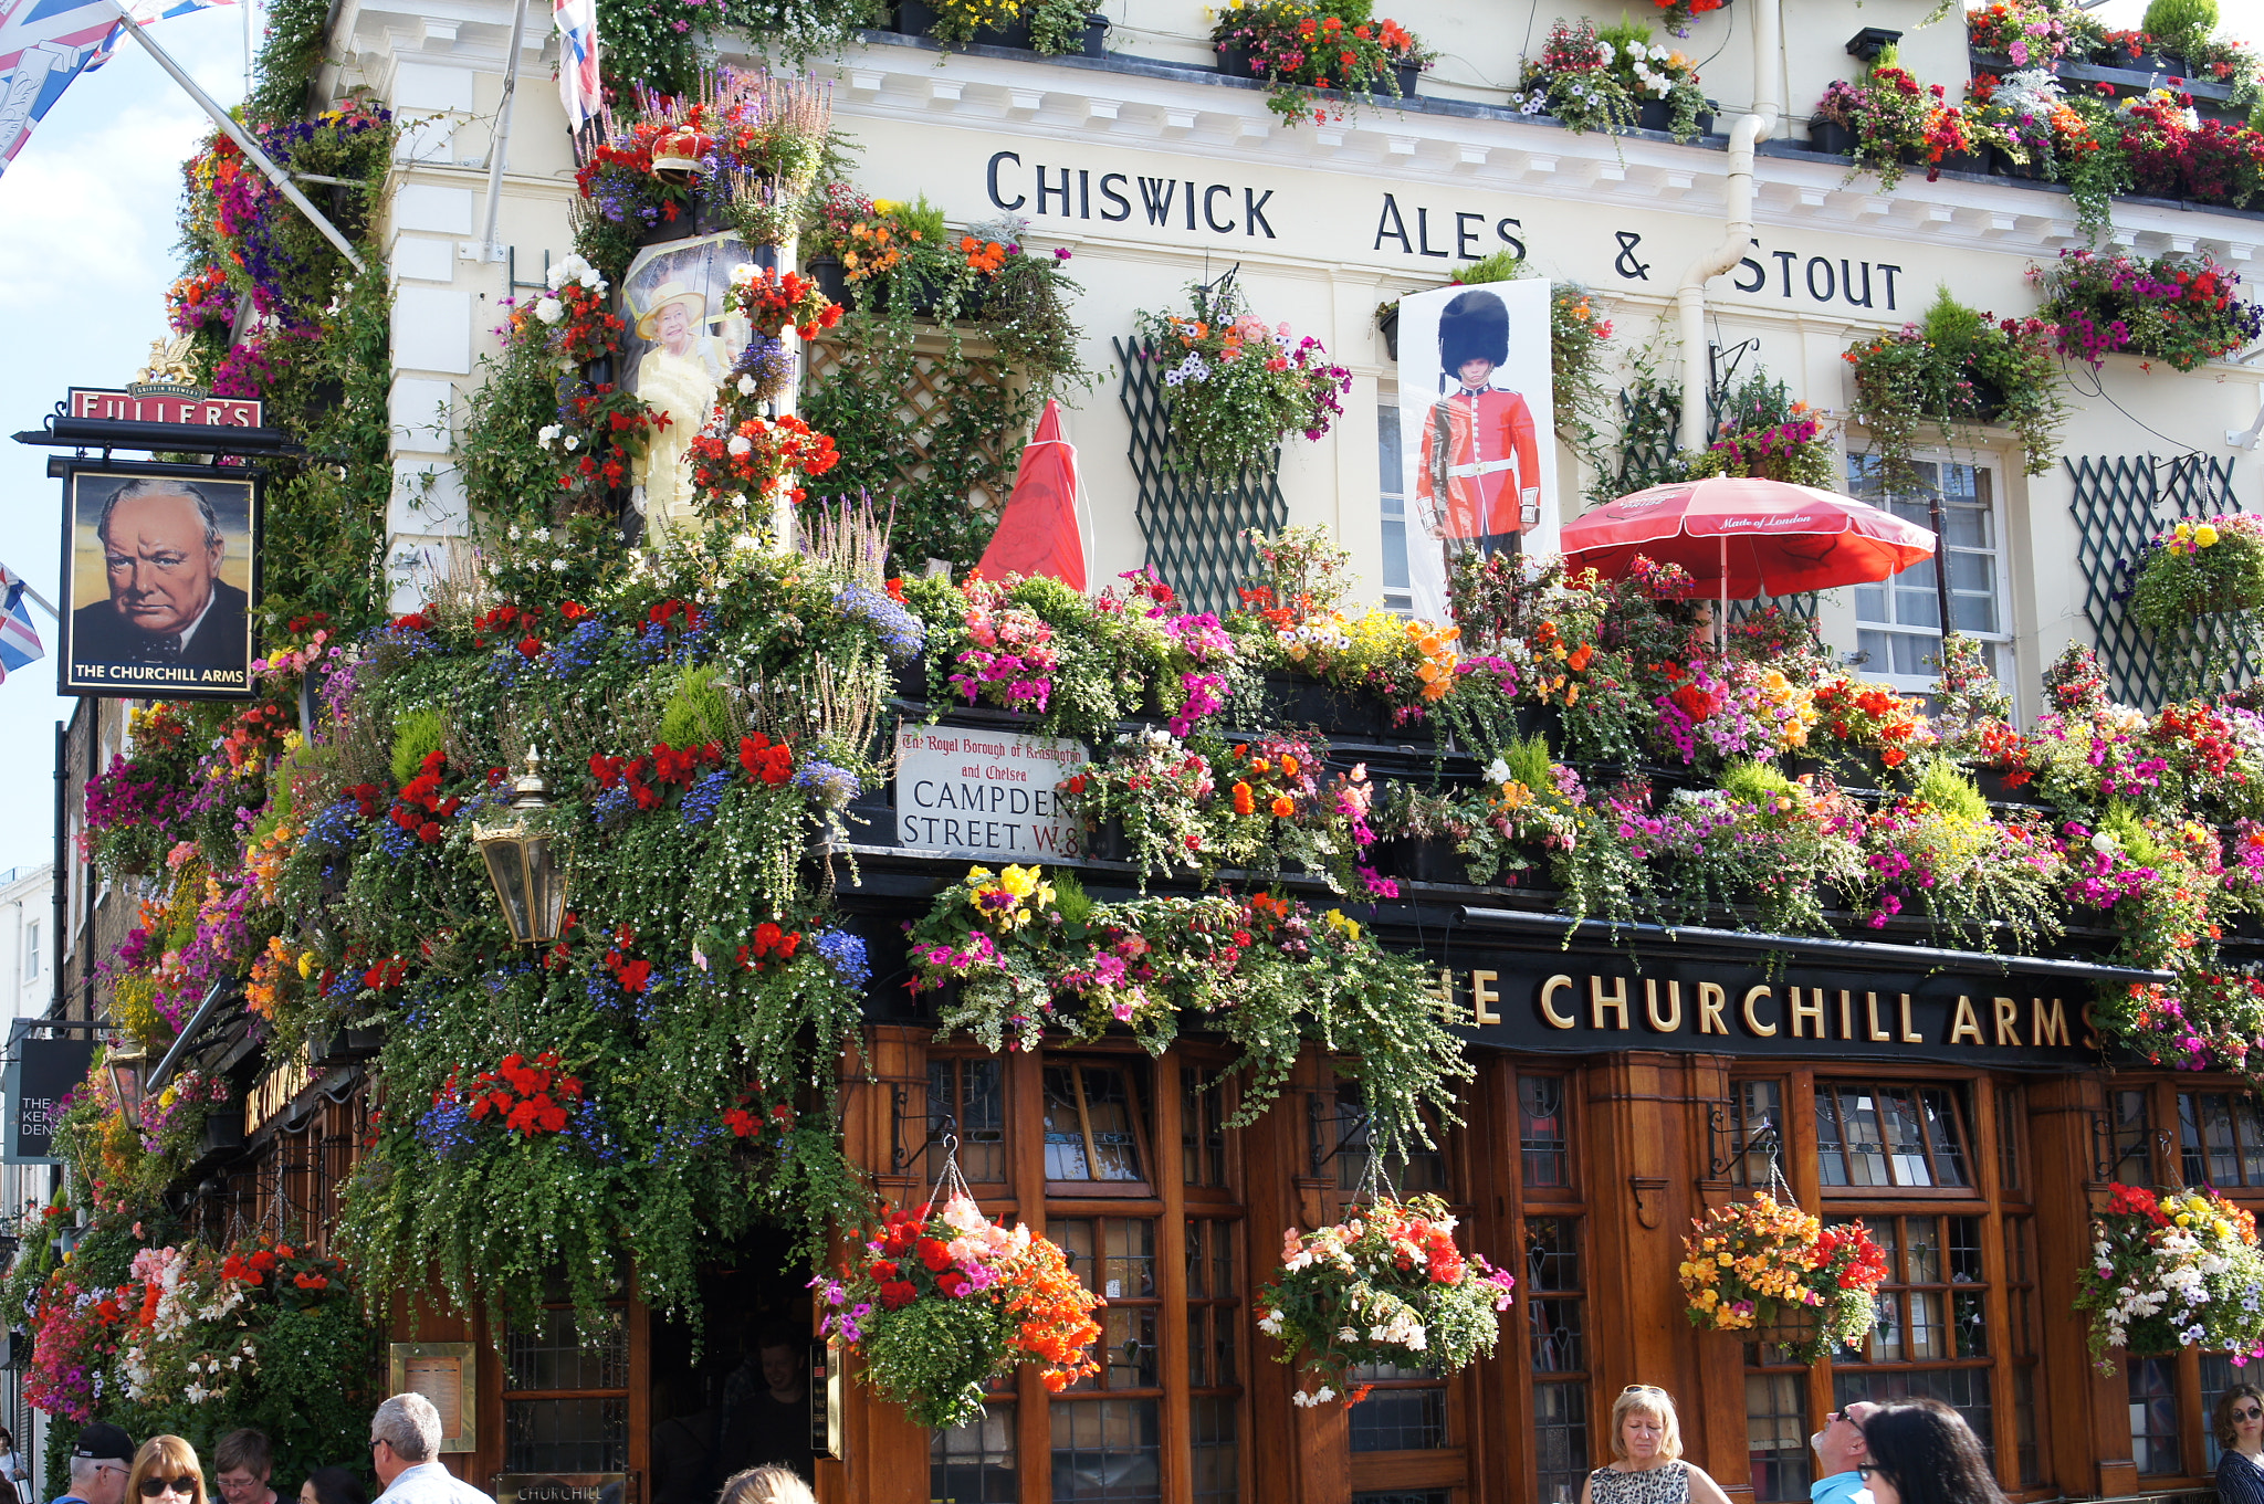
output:
[[2180, 516], [2241, 509], [2232, 495], [2232, 459], [2096, 455], [2060, 464], [2076, 482], [2067, 511], [2076, 518], [2083, 615], [2115, 697], [2158, 710], [2173, 699], [2257, 678], [2264, 651], [2255, 613], [2210, 615], [2164, 636], [2139, 626], [2126, 611], [2139, 550], [2158, 531]]

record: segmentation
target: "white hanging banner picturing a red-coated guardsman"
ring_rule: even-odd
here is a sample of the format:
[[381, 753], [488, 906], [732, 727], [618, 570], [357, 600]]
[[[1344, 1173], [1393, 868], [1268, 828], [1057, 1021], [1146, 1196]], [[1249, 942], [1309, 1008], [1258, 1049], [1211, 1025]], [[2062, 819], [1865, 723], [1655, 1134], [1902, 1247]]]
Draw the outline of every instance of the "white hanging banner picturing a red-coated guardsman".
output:
[[1553, 554], [1549, 283], [1478, 283], [1399, 301], [1399, 461], [1415, 615], [1447, 620], [1463, 554]]

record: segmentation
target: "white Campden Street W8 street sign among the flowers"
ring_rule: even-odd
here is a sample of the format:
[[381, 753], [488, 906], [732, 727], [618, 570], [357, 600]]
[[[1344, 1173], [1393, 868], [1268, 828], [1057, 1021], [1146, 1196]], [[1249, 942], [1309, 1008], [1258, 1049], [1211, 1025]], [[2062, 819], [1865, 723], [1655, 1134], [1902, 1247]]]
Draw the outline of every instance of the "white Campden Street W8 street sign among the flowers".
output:
[[1082, 742], [978, 726], [897, 731], [897, 846], [978, 862], [1062, 862], [1082, 826], [1053, 789], [1084, 767]]

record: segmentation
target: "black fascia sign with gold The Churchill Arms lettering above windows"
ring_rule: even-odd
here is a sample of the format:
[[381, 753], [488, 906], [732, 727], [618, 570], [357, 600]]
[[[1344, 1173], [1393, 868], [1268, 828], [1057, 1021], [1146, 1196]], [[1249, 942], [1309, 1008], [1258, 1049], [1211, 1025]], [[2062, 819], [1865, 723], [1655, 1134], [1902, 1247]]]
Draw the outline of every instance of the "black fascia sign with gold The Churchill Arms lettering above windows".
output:
[[1503, 1049], [1872, 1056], [2076, 1070], [2099, 1058], [2063, 982], [1761, 968], [1646, 954], [1494, 952], [1440, 970], [1449, 1018]]

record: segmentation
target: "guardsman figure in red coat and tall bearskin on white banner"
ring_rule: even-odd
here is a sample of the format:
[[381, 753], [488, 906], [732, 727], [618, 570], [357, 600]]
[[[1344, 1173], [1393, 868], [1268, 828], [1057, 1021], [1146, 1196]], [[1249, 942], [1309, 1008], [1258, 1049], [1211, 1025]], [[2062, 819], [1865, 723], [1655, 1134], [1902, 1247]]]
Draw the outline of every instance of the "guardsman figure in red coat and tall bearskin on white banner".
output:
[[1542, 520], [1542, 455], [1533, 409], [1492, 384], [1510, 360], [1510, 310], [1499, 294], [1472, 287], [1438, 314], [1440, 375], [1456, 387], [1422, 418], [1415, 498], [1431, 536], [1458, 554], [1517, 554], [1519, 536]]

